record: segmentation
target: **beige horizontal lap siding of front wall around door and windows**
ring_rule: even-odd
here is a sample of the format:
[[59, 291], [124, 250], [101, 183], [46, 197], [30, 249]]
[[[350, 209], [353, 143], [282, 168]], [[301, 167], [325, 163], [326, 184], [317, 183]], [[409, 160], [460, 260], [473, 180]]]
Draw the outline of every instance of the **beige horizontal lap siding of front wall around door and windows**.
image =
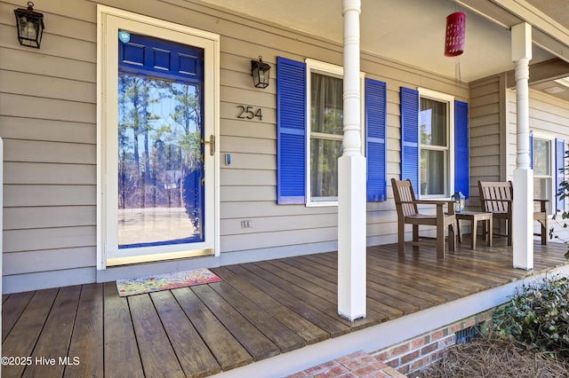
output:
[[[4, 138], [6, 290], [95, 280], [96, 1], [51, 1], [41, 50], [17, 45], [13, 4], [0, 0], [0, 135]], [[100, 4], [113, 6], [111, 0]], [[202, 2], [140, 0], [128, 11], [220, 35], [220, 252], [237, 261], [337, 248], [337, 209], [276, 205], [276, 57], [342, 64], [341, 43], [275, 28]], [[340, 11], [339, 11], [340, 12]], [[254, 41], [263, 41], [262, 45]], [[271, 66], [268, 88], [252, 86], [251, 59]], [[387, 83], [387, 179], [400, 174], [399, 88], [418, 86], [468, 101], [466, 86], [362, 55], [362, 71]], [[18, 85], [17, 83], [24, 83]], [[262, 120], [238, 119], [238, 106]], [[225, 163], [226, 154], [231, 164]], [[368, 244], [397, 240], [393, 193], [367, 205]], [[250, 221], [242, 228], [242, 221]], [[49, 263], [49, 264], [48, 264]]]

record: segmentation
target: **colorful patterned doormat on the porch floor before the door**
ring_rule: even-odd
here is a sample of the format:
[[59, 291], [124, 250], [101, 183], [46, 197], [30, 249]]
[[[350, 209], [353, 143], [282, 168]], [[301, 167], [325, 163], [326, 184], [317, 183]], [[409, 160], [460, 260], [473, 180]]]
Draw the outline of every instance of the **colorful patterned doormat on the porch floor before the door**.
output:
[[116, 288], [118, 289], [118, 295], [127, 296], [219, 281], [221, 281], [220, 277], [210, 270], [196, 269], [194, 271], [156, 274], [129, 280], [116, 280]]

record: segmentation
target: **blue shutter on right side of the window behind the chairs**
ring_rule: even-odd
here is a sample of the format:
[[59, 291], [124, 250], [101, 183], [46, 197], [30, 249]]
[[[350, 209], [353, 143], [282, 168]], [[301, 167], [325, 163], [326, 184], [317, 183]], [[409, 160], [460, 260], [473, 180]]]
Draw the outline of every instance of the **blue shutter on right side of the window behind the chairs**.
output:
[[470, 197], [469, 104], [454, 101], [454, 191]]

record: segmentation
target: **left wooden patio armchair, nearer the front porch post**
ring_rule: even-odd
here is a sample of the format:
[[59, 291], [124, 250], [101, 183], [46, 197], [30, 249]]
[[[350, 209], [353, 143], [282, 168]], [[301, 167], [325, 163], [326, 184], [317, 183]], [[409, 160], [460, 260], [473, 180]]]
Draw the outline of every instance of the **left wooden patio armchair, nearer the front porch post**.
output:
[[[453, 251], [456, 244], [454, 225], [453, 201], [424, 201], [416, 200], [413, 185], [410, 180], [396, 180], [391, 178], [393, 194], [395, 196], [395, 206], [397, 209], [397, 234], [399, 255], [405, 255], [405, 244], [413, 246], [432, 247], [431, 243], [420, 242], [419, 239], [433, 239], [419, 235], [420, 225], [431, 225], [437, 227], [437, 258], [445, 258], [445, 228], [448, 227], [448, 249]], [[435, 214], [422, 214], [419, 212], [418, 205], [436, 205]], [[447, 205], [445, 211], [444, 206]], [[413, 224], [413, 240], [405, 241], [405, 224]]]

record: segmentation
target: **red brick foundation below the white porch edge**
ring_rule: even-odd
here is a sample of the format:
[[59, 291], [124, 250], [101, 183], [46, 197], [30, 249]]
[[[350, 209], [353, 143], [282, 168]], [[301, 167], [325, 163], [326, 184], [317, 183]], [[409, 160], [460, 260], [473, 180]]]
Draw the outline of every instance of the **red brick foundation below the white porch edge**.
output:
[[477, 325], [484, 327], [492, 319], [492, 314], [492, 310], [481, 312], [387, 349], [374, 351], [370, 355], [402, 374], [417, 372], [442, 359], [446, 349], [456, 343], [457, 332]]

